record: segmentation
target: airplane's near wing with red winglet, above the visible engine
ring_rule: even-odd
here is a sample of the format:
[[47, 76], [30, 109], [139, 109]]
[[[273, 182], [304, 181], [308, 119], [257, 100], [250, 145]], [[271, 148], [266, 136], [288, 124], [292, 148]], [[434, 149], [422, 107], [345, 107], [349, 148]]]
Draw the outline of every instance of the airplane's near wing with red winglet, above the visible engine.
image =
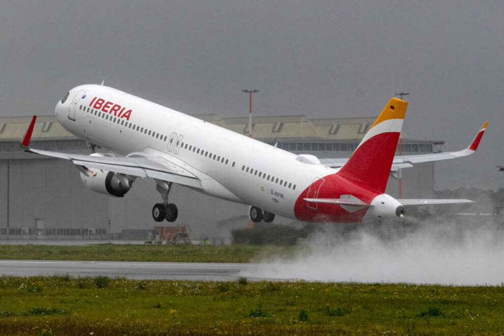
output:
[[175, 162], [160, 156], [146, 157], [138, 154], [125, 157], [94, 156], [51, 152], [30, 148], [30, 139], [36, 119], [37, 116], [34, 116], [20, 144], [21, 148], [26, 152], [71, 160], [83, 174], [87, 174], [87, 168], [92, 167], [124, 175], [142, 178], [149, 177], [203, 189], [197, 176]]

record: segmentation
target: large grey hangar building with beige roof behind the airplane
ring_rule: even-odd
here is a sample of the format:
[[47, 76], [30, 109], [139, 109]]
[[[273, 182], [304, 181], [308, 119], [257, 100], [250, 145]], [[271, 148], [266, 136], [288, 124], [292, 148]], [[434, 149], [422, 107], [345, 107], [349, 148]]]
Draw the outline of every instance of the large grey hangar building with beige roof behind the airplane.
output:
[[[195, 116], [247, 135], [248, 118]], [[349, 157], [375, 118], [308, 119], [305, 116], [255, 117], [253, 136], [296, 154], [319, 158]], [[0, 118], [0, 239], [96, 239], [122, 230], [153, 229], [151, 216], [161, 201], [155, 182], [137, 179], [124, 198], [111, 198], [87, 189], [67, 160], [25, 153], [19, 140], [31, 117]], [[404, 134], [403, 154], [438, 152], [442, 141], [416, 141]], [[41, 116], [32, 147], [88, 153], [85, 142], [67, 132], [53, 116]], [[399, 154], [399, 146], [398, 146]], [[421, 163], [402, 172], [403, 198], [429, 198], [434, 192], [434, 163]], [[398, 180], [390, 178], [387, 192], [398, 196]], [[211, 198], [176, 185], [170, 200], [177, 204], [175, 225], [187, 226], [193, 239], [229, 238], [232, 228], [246, 227], [248, 207]], [[278, 217], [276, 223], [292, 220]], [[165, 222], [163, 225], [174, 225]]]

